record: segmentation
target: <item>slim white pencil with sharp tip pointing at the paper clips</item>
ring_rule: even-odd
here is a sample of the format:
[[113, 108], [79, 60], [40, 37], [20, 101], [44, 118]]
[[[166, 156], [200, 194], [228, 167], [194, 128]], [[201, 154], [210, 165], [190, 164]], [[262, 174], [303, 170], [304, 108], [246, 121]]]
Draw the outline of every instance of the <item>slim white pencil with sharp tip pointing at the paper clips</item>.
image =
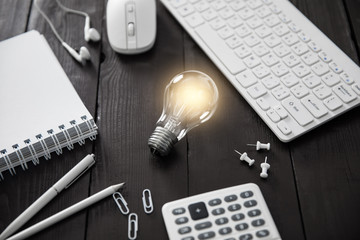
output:
[[58, 212], [55, 215], [52, 215], [51, 217], [48, 217], [47, 219], [15, 234], [14, 236], [8, 238], [7, 240], [15, 240], [15, 239], [24, 239], [27, 238], [69, 216], [71, 216], [74, 213], [77, 213], [78, 211], [90, 206], [91, 204], [96, 203], [97, 201], [100, 201], [101, 199], [114, 194], [119, 188], [121, 188], [125, 183], [120, 183], [117, 185], [112, 185], [108, 188], [105, 188], [104, 190], [92, 195], [91, 197], [85, 198], [81, 202], [78, 202], [71, 207], [68, 207], [61, 212]]

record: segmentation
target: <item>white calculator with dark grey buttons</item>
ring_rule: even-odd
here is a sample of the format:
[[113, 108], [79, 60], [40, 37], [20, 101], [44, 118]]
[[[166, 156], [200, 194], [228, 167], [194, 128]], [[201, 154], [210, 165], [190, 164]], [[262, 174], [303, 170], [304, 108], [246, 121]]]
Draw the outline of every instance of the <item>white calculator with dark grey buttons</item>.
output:
[[254, 183], [168, 202], [162, 214], [170, 240], [281, 240]]

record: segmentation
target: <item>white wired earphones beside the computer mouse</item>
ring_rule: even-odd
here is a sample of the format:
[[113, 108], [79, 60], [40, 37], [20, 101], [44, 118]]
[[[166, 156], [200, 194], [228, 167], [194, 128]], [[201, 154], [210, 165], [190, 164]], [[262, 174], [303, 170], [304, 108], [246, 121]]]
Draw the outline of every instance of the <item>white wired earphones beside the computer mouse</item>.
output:
[[[37, 8], [37, 10], [40, 12], [40, 14], [44, 17], [44, 19], [47, 21], [47, 23], [50, 25], [51, 30], [54, 32], [56, 38], [61, 42], [61, 44], [63, 45], [63, 47], [70, 53], [70, 55], [76, 59], [76, 61], [85, 64], [85, 62], [87, 60], [90, 60], [90, 52], [89, 50], [82, 46], [80, 47], [79, 51], [76, 51], [75, 49], [73, 49], [72, 47], [70, 47], [58, 34], [58, 32], [56, 31], [54, 25], [52, 24], [52, 22], [50, 21], [50, 19], [46, 16], [46, 14], [40, 9], [40, 7], [37, 4], [38, 0], [35, 0], [34, 5]], [[56, 0], [57, 4], [59, 5], [60, 8], [62, 8], [65, 12], [69, 12], [69, 13], [73, 13], [73, 14], [78, 14], [78, 15], [82, 15], [85, 17], [85, 27], [84, 27], [84, 38], [85, 41], [94, 41], [97, 42], [100, 40], [100, 33], [95, 29], [95, 28], [90, 28], [90, 16], [89, 14], [85, 13], [85, 12], [81, 12], [81, 11], [77, 11], [77, 10], [73, 10], [70, 8], [65, 7], [64, 5], [62, 5], [59, 0]]]

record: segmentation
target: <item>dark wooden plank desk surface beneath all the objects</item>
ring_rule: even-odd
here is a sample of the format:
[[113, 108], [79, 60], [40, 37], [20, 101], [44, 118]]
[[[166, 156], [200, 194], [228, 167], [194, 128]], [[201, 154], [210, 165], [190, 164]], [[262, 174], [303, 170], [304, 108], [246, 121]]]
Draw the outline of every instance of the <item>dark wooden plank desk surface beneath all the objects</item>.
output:
[[[92, 60], [81, 66], [65, 52], [32, 1], [2, 0], [0, 40], [36, 29], [45, 35], [80, 97], [96, 118], [99, 136], [85, 147], [65, 150], [0, 182], [0, 231], [22, 213], [87, 153], [97, 164], [63, 191], [25, 227], [115, 183], [125, 181], [123, 195], [139, 215], [138, 239], [167, 239], [161, 216], [165, 202], [209, 190], [253, 182], [260, 186], [283, 239], [359, 239], [360, 109], [285, 144], [280, 142], [234, 87], [159, 2], [157, 39], [145, 54], [113, 52], [106, 32], [106, 1], [62, 0], [86, 11], [101, 31], [100, 43], [83, 39], [84, 19], [64, 14], [54, 1], [39, 1], [60, 35], [72, 46], [86, 45]], [[292, 1], [346, 54], [359, 63], [360, 1]], [[0, 53], [1, 54], [1, 53]], [[165, 159], [154, 158], [147, 140], [162, 109], [163, 90], [177, 73], [198, 69], [215, 80], [219, 108], [194, 129]], [[20, 69], [21, 70], [21, 69]], [[360, 76], [357, 76], [360, 77]], [[66, 96], [64, 96], [66, 97]], [[1, 136], [2, 137], [2, 136]], [[270, 142], [270, 152], [246, 143]], [[271, 163], [267, 180], [259, 166], [249, 169], [233, 149], [246, 150]], [[258, 165], [258, 164], [257, 164]], [[155, 212], [142, 209], [142, 190], [152, 191]], [[127, 218], [111, 197], [31, 239], [127, 239]]]

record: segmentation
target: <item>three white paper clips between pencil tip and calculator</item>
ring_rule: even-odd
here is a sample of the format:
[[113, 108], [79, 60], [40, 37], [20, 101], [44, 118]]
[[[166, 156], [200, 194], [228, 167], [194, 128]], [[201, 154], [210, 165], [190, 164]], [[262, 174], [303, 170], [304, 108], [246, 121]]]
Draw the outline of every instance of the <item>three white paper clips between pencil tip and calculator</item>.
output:
[[[144, 211], [146, 214], [151, 214], [154, 211], [154, 205], [152, 202], [151, 192], [149, 189], [145, 189], [142, 193], [142, 202]], [[119, 207], [120, 212], [123, 215], [128, 215], [130, 210], [125, 198], [119, 192], [113, 194], [116, 205]], [[138, 231], [138, 216], [136, 213], [130, 213], [128, 216], [128, 237], [130, 240], [134, 240], [137, 237]]]

